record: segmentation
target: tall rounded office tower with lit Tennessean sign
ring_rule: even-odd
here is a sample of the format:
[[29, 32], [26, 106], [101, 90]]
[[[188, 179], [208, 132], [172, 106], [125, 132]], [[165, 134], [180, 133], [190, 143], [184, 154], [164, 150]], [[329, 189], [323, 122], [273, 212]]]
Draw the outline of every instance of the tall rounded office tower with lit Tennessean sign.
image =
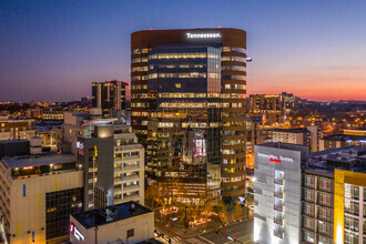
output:
[[245, 49], [238, 29], [132, 33], [131, 121], [150, 183], [174, 180], [197, 199], [245, 193]]

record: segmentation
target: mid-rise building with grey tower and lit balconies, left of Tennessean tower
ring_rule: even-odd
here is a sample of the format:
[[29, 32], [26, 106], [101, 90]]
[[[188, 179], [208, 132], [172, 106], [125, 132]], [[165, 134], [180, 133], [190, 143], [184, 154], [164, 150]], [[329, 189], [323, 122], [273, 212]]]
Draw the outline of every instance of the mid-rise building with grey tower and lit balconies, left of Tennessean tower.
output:
[[99, 122], [77, 144], [79, 163], [84, 165], [85, 210], [94, 207], [95, 189], [105, 193], [106, 205], [144, 204], [144, 149], [131, 126]]

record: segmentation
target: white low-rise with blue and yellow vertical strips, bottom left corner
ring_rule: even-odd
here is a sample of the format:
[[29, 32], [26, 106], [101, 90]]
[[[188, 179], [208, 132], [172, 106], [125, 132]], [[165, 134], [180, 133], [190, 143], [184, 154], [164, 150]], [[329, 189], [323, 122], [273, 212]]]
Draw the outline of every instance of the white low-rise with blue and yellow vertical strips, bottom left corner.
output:
[[6, 244], [61, 243], [69, 214], [82, 211], [82, 171], [74, 155], [0, 161], [0, 234]]

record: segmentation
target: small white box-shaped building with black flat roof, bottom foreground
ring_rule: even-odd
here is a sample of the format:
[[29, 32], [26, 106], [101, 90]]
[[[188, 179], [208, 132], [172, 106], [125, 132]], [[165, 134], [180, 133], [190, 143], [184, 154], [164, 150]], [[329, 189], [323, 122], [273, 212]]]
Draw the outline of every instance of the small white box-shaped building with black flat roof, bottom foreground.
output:
[[70, 216], [70, 242], [141, 243], [154, 237], [154, 212], [126, 202]]

